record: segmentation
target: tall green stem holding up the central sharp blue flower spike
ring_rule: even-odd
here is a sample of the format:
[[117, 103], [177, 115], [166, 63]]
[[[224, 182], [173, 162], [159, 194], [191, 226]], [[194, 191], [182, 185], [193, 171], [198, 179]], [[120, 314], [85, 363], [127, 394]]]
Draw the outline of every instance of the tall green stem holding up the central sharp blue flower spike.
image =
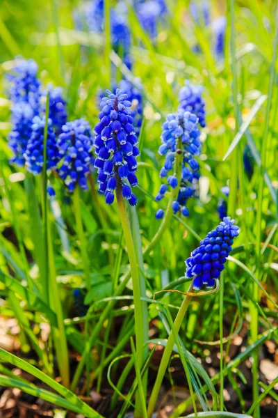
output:
[[[141, 288], [140, 288], [140, 274], [137, 264], [136, 251], [133, 244], [133, 238], [131, 234], [131, 227], [129, 225], [129, 218], [124, 206], [124, 198], [122, 196], [122, 184], [118, 182], [116, 189], [117, 205], [119, 208], [120, 219], [122, 222], [122, 229], [124, 231], [124, 239], [126, 240], [127, 253], [129, 255], [129, 264], [131, 268], [131, 278], [133, 287], [133, 300], [134, 300], [134, 319], [135, 319], [135, 334], [136, 334], [136, 361], [138, 369], [142, 368], [144, 362], [145, 351], [145, 339], [144, 339], [144, 320], [143, 320], [143, 308], [141, 301]], [[136, 393], [136, 405], [139, 410], [142, 410], [142, 402], [140, 394]], [[134, 412], [134, 417], [141, 417], [141, 413]]]

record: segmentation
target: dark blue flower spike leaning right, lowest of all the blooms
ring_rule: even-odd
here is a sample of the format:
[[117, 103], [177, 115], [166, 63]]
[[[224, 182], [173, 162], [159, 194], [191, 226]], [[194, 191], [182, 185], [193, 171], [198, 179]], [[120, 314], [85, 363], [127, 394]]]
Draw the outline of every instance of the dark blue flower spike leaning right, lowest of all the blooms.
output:
[[199, 290], [203, 285], [213, 288], [215, 279], [220, 277], [234, 238], [238, 236], [239, 228], [234, 223], [234, 219], [224, 217], [220, 225], [206, 235], [200, 246], [186, 260], [186, 277], [195, 277], [195, 290]]

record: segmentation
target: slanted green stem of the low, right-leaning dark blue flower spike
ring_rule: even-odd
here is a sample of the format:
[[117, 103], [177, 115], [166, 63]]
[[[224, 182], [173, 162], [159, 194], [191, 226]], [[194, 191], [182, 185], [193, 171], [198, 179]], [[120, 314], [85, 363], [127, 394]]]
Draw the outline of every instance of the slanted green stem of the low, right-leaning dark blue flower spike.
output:
[[[193, 291], [193, 281], [191, 282], [188, 293]], [[183, 318], [186, 314], [186, 311], [188, 309], [188, 305], [190, 303], [190, 300], [192, 299], [192, 296], [186, 295], [183, 299], [183, 302], [181, 304], [181, 307], [179, 308], [179, 312], [177, 313], [176, 319], [174, 320], [174, 330], [175, 333], [179, 333], [179, 329], [181, 327], [181, 323], [183, 321]], [[165, 346], [165, 350], [161, 359], [161, 364], [158, 369], [158, 373], [156, 376], [156, 381], [154, 383], [154, 388], [152, 389], [152, 394], [149, 398], [149, 405], [147, 408], [147, 414], [149, 418], [152, 418], [152, 414], [154, 412], [154, 408], [156, 407], [156, 401], [158, 398], [159, 391], [161, 389], [161, 384], [165, 375], [165, 371], [167, 370], [168, 363], [170, 361], [170, 357], [172, 355], [172, 350], [174, 348], [174, 332], [170, 332], [170, 335], [167, 340], [167, 344]]]

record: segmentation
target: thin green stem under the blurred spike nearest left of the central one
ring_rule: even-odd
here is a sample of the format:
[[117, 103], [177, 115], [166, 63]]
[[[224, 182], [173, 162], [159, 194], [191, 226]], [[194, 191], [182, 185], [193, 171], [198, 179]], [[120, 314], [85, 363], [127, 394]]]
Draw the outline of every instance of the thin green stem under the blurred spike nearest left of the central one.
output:
[[77, 185], [74, 190], [74, 212], [75, 212], [75, 219], [76, 219], [76, 228], [77, 233], [79, 236], [80, 247], [81, 247], [81, 257], [83, 261], [83, 269], [85, 272], [85, 279], [86, 279], [86, 287], [90, 289], [90, 262], [87, 254], [87, 240], [85, 238], [83, 225], [82, 225], [82, 217], [81, 217], [81, 209], [80, 209], [80, 193], [79, 193], [79, 186]]

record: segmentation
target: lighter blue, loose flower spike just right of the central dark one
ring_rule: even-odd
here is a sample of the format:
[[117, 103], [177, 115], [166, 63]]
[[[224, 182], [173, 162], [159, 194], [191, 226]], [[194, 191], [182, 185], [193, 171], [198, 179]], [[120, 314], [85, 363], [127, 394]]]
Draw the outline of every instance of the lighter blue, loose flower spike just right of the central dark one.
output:
[[[177, 201], [172, 203], [174, 213], [181, 211], [181, 215], [188, 216], [188, 208], [186, 208], [187, 200], [193, 196], [192, 183], [199, 178], [199, 164], [195, 159], [201, 150], [200, 131], [197, 126], [198, 118], [190, 111], [179, 109], [177, 114], [169, 114], [163, 123], [163, 132], [161, 134], [162, 145], [158, 148], [158, 153], [165, 155], [165, 162], [161, 169], [161, 178], [167, 178], [167, 185], [161, 185], [156, 201], [161, 201], [167, 192], [168, 187], [173, 189], [179, 187]], [[181, 149], [178, 148], [179, 140], [181, 141]], [[174, 160], [177, 154], [183, 155], [181, 169], [181, 183], [173, 172]], [[172, 173], [170, 174], [170, 171]], [[156, 219], [163, 217], [163, 210], [156, 212]]]

